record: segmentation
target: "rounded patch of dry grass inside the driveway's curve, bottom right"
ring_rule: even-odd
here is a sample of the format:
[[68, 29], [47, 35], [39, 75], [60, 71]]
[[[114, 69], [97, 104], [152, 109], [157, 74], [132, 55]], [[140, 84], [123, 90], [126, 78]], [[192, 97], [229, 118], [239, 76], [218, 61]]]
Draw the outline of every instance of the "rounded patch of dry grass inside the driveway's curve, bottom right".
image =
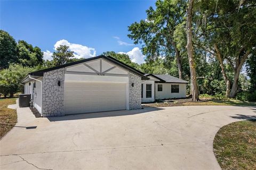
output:
[[256, 120], [220, 128], [213, 151], [222, 169], [256, 169]]

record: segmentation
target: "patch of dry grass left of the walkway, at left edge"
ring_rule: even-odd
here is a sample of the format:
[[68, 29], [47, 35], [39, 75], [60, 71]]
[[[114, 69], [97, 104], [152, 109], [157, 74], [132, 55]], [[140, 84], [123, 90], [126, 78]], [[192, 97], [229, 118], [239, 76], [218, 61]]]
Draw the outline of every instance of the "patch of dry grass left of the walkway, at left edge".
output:
[[17, 123], [17, 112], [9, 109], [9, 104], [15, 104], [15, 98], [0, 99], [0, 139]]

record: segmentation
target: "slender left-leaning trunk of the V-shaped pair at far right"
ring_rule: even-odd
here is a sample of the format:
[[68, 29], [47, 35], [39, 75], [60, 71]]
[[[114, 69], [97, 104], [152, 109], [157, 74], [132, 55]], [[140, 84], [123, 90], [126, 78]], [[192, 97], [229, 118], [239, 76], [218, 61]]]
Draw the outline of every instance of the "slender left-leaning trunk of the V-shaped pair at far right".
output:
[[230, 95], [230, 80], [227, 77], [227, 74], [226, 74], [226, 71], [225, 71], [225, 68], [224, 68], [224, 64], [223, 64], [223, 59], [222, 59], [222, 56], [221, 56], [220, 51], [219, 51], [216, 44], [214, 44], [214, 49], [217, 52], [217, 59], [220, 62], [221, 74], [222, 74], [223, 79], [224, 79], [225, 84], [226, 84], [226, 97], [229, 98], [229, 95]]

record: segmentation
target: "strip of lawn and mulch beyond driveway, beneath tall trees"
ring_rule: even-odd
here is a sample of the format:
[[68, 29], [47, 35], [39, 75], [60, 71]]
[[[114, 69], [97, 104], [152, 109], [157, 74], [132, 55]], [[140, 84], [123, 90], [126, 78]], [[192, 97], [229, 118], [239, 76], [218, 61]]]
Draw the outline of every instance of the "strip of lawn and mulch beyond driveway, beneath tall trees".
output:
[[145, 103], [143, 104], [149, 107], [170, 107], [170, 106], [222, 106], [222, 105], [231, 105], [231, 106], [256, 106], [256, 102], [246, 102], [239, 100], [217, 100], [217, 99], [201, 99], [200, 101], [194, 102], [191, 99], [172, 99], [172, 100], [163, 100], [161, 102], [155, 103]]

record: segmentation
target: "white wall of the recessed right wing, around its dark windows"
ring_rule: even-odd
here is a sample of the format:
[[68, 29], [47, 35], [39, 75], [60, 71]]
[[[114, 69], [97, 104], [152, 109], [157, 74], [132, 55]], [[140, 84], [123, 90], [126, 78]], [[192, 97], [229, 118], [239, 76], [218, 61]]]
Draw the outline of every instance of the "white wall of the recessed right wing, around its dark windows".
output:
[[[163, 91], [157, 91], [157, 85], [163, 85]], [[173, 83], [174, 84], [174, 83]], [[172, 83], [156, 83], [155, 84], [155, 98], [156, 99], [173, 99], [173, 98], [186, 98], [186, 84], [179, 84], [179, 93], [172, 93], [171, 85]]]

